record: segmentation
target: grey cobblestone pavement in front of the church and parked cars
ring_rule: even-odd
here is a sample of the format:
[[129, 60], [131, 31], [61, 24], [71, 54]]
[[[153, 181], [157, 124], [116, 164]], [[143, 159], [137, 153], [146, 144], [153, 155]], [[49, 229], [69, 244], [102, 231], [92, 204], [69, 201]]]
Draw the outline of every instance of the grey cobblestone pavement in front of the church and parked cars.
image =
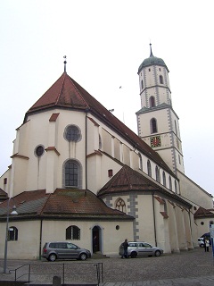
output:
[[[53, 263], [46, 260], [8, 260], [7, 265], [9, 270], [21, 265], [29, 267], [29, 264], [32, 269], [42, 267], [45, 274], [50, 272], [53, 277], [54, 274], [60, 272], [63, 263], [70, 267], [67, 270], [64, 269], [64, 272], [67, 272], [66, 275], [70, 275], [70, 283], [95, 282], [95, 264], [103, 263], [103, 282], [101, 283], [103, 286], [214, 286], [212, 253], [211, 251], [204, 252], [203, 248], [161, 257], [121, 259], [119, 256], [114, 256], [106, 259], [88, 259], [85, 262], [73, 260]], [[14, 279], [13, 272], [3, 273], [3, 265], [4, 260], [0, 259], [0, 281]], [[38, 273], [39, 271], [37, 268]], [[37, 275], [40, 281], [42, 279], [45, 282], [45, 274]], [[75, 280], [75, 275], [78, 280]], [[94, 278], [92, 278], [93, 275]]]

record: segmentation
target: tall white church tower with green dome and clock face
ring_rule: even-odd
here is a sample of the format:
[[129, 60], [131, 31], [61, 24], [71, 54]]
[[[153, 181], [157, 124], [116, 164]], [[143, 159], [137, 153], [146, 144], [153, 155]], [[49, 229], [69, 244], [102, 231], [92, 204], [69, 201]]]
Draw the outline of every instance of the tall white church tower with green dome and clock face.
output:
[[152, 55], [138, 69], [141, 109], [136, 113], [138, 135], [152, 147], [177, 174], [185, 172], [179, 118], [172, 107], [169, 69]]

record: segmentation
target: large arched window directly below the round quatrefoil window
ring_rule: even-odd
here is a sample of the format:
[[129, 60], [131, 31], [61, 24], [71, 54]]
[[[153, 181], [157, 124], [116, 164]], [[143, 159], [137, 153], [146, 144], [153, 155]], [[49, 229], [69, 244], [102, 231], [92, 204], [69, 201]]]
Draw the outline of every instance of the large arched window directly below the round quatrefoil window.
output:
[[68, 160], [63, 167], [63, 185], [65, 188], [82, 188], [82, 167], [76, 160]]

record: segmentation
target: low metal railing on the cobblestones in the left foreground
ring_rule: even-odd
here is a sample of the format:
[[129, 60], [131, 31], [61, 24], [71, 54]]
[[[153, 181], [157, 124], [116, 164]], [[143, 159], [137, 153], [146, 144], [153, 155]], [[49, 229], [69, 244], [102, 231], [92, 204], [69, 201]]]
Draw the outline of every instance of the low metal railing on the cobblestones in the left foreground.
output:
[[28, 264], [10, 270], [14, 272], [14, 281], [52, 282], [53, 276], [61, 276], [62, 283], [103, 283], [103, 263], [70, 262]]

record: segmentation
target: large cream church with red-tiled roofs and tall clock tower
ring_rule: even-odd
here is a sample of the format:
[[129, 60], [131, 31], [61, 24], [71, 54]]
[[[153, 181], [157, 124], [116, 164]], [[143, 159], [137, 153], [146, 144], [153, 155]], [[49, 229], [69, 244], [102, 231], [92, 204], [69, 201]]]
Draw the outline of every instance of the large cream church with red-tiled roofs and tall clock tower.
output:
[[17, 259], [39, 259], [45, 242], [57, 240], [109, 256], [125, 239], [164, 253], [197, 248], [214, 221], [213, 201], [185, 175], [166, 63], [150, 45], [138, 68], [138, 134], [64, 64], [62, 76], [23, 116], [12, 164], [0, 177], [0, 258], [6, 231], [7, 257]]

